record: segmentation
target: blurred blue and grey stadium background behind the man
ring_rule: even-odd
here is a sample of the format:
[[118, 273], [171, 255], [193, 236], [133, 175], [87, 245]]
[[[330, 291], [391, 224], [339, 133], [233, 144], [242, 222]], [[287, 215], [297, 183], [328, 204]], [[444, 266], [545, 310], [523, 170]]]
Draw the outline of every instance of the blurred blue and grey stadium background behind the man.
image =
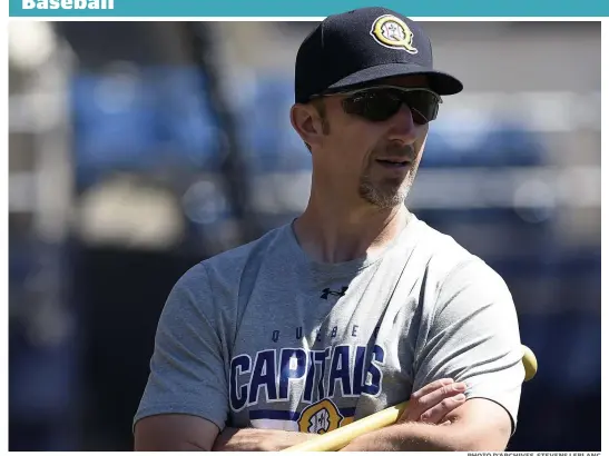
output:
[[[11, 450], [130, 450], [177, 278], [304, 208], [313, 26], [9, 26]], [[409, 206], [512, 290], [540, 370], [510, 449], [600, 450], [600, 23], [425, 29], [465, 91]]]

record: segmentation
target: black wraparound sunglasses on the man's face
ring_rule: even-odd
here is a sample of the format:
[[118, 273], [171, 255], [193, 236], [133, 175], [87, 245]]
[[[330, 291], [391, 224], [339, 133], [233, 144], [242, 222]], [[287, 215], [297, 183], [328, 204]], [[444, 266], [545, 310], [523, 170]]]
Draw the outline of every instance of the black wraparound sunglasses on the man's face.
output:
[[412, 112], [413, 122], [425, 125], [438, 117], [442, 102], [442, 98], [432, 90], [395, 86], [374, 86], [340, 95], [347, 96], [342, 101], [346, 113], [373, 122], [391, 119], [405, 105]]

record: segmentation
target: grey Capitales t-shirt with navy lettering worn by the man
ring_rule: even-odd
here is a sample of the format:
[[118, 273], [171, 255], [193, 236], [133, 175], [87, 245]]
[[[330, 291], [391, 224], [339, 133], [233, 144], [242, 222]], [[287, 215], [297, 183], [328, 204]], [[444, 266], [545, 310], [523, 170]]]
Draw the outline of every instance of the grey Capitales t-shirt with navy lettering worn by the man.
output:
[[289, 224], [178, 280], [135, 422], [325, 433], [452, 377], [514, 429], [521, 355], [501, 277], [414, 216], [383, 254], [342, 264], [312, 261]]

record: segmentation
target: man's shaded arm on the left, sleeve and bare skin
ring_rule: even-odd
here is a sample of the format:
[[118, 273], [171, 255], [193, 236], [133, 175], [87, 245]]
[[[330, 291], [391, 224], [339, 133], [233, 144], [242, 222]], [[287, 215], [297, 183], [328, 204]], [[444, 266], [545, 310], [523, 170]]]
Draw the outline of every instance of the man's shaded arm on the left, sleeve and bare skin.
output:
[[210, 450], [228, 416], [218, 321], [203, 265], [163, 309], [150, 376], [134, 419], [136, 450]]

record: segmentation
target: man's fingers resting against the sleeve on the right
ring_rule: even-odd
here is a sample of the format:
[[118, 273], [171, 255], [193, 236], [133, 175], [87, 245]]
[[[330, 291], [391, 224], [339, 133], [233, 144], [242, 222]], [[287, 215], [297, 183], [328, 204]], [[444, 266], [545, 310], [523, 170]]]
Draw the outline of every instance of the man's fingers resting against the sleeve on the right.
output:
[[464, 383], [442, 378], [414, 391], [400, 420], [438, 424], [465, 402]]

